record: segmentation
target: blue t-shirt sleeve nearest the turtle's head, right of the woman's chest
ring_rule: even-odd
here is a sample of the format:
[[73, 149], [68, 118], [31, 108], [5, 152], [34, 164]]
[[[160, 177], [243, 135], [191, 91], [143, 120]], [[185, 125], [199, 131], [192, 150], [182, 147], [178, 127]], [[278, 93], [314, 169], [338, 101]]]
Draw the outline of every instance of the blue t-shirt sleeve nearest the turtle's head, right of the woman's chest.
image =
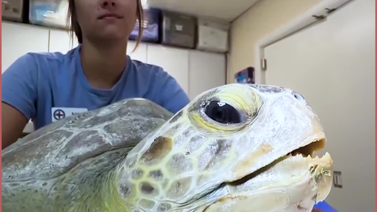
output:
[[158, 103], [172, 113], [184, 108], [190, 99], [178, 82], [162, 68], [156, 72], [155, 88], [153, 89]]

